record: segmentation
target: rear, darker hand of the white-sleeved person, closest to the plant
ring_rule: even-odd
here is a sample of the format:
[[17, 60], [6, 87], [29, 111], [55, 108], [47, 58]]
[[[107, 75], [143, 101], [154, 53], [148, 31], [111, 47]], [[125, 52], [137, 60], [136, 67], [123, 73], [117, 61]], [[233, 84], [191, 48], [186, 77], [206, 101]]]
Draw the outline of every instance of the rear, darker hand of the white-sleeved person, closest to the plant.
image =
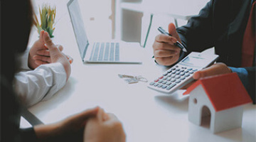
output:
[[[30, 67], [32, 70], [38, 67], [39, 65], [48, 64], [51, 62], [50, 60], [50, 51], [48, 48], [46, 48], [45, 42], [43, 40], [43, 34], [45, 31], [41, 31], [40, 37], [31, 47], [31, 50], [29, 50], [28, 55], [28, 67]], [[57, 48], [62, 51], [63, 46], [62, 45], [56, 45]], [[65, 55], [69, 62], [73, 62], [73, 58], [70, 58], [69, 55]]]

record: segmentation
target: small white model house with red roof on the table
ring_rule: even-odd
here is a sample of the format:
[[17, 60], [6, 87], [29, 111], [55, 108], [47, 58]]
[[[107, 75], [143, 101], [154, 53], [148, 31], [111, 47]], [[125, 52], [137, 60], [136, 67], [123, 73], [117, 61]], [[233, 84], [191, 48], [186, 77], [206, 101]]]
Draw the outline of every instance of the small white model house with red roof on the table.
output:
[[210, 131], [240, 128], [242, 105], [252, 103], [236, 73], [206, 77], [188, 87], [188, 120], [198, 126], [210, 116]]

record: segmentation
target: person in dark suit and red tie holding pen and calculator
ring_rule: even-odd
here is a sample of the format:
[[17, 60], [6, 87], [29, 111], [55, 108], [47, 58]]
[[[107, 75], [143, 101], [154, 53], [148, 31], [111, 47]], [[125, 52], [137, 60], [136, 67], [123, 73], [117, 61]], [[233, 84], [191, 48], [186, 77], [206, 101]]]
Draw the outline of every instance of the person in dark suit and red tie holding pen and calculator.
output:
[[160, 65], [174, 65], [181, 49], [180, 41], [188, 50], [201, 52], [215, 47], [218, 62], [206, 70], [195, 72], [193, 78], [237, 72], [247, 92], [256, 103], [255, 94], [255, 0], [210, 0], [185, 26], [169, 24], [169, 33], [159, 34], [154, 41], [154, 58]]

